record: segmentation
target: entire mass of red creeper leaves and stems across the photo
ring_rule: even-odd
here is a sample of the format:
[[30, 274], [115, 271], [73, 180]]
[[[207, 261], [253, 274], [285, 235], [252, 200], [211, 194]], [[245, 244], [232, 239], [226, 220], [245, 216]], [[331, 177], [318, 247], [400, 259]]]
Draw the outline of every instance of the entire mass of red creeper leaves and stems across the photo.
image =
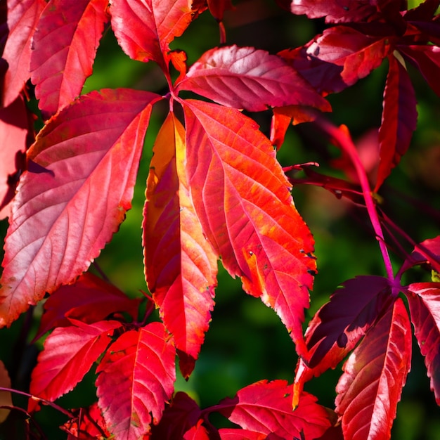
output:
[[[9, 221], [1, 326], [46, 298], [37, 337], [48, 335], [25, 410], [30, 425], [41, 403], [55, 406], [96, 368], [97, 403], [66, 411], [68, 439], [389, 439], [410, 370], [411, 324], [440, 403], [440, 237], [410, 242], [413, 252], [394, 273], [382, 231], [392, 223], [373, 196], [416, 127], [407, 65], [440, 95], [440, 1], [411, 9], [401, 0], [278, 3], [285, 13], [325, 18], [325, 30], [302, 47], [271, 54], [226, 44], [229, 0], [1, 3], [0, 199]], [[219, 22], [221, 44], [187, 67], [186, 53], [169, 44], [203, 12]], [[160, 66], [169, 93], [103, 89], [80, 96], [106, 27], [130, 58]], [[328, 122], [325, 96], [382, 63], [388, 71], [372, 182], [347, 127]], [[29, 79], [45, 121], [36, 136], [25, 105]], [[182, 98], [181, 91], [202, 99]], [[142, 224], [151, 296], [129, 299], [86, 271], [131, 207], [159, 101], [169, 103], [169, 113], [145, 176]], [[271, 138], [242, 112], [268, 108]], [[292, 200], [295, 177], [287, 178], [276, 157], [292, 122], [313, 122], [348, 158], [357, 183], [318, 174], [311, 164], [292, 168], [305, 172], [306, 183], [365, 206], [385, 268], [385, 276], [342, 283], [305, 335], [313, 236]], [[174, 394], [175, 362], [177, 355], [179, 374], [189, 377], [209, 329], [219, 259], [247, 294], [278, 314], [299, 361], [292, 384], [261, 380], [201, 409], [187, 394]], [[432, 281], [403, 285], [413, 266], [429, 268]], [[154, 308], [160, 321], [150, 319]], [[303, 386], [344, 359], [335, 410], [323, 408]], [[214, 411], [235, 427], [214, 427]]]

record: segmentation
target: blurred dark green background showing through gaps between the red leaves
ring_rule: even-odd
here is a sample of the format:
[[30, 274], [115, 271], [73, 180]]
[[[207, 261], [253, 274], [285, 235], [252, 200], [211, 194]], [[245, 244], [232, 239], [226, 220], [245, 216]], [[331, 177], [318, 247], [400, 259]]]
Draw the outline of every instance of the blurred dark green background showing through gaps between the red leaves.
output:
[[[283, 48], [304, 44], [322, 29], [323, 22], [312, 22], [285, 13], [274, 2], [235, 2], [247, 8], [251, 3], [252, 14], [240, 15], [238, 11], [238, 15], [227, 15], [228, 44], [256, 46], [276, 53]], [[193, 63], [204, 51], [218, 44], [216, 22], [208, 13], [204, 13], [182, 37], [174, 41], [172, 48], [185, 50], [189, 63]], [[354, 138], [380, 124], [386, 72], [386, 65], [383, 65], [351, 89], [329, 97], [333, 108], [330, 119], [337, 124], [346, 124]], [[417, 241], [439, 235], [439, 179], [429, 176], [429, 170], [426, 169], [428, 164], [423, 161], [429, 150], [440, 145], [440, 101], [417, 72], [410, 69], [410, 73], [418, 95], [419, 128], [411, 150], [403, 158], [401, 166], [394, 170], [380, 195], [384, 198], [387, 214]], [[166, 93], [166, 86], [164, 77], [154, 63], [130, 60], [117, 46], [111, 30], [108, 30], [98, 49], [93, 75], [87, 80], [84, 93], [105, 87], [131, 87]], [[112, 283], [131, 296], [141, 295], [140, 290], [146, 291], [141, 247], [145, 179], [155, 135], [166, 112], [163, 104], [153, 110], [133, 208], [127, 213], [127, 219], [112, 242], [97, 259]], [[254, 117], [267, 134], [270, 115], [264, 113]], [[287, 165], [315, 161], [321, 164], [321, 172], [334, 172], [328, 167], [328, 162], [337, 157], [337, 151], [326, 147], [313, 148], [314, 142], [310, 142], [313, 136], [313, 129], [307, 124], [304, 127], [291, 127], [285, 145], [278, 153], [280, 162]], [[440, 173], [439, 167], [437, 170]], [[308, 321], [339, 283], [361, 274], [383, 275], [384, 268], [379, 247], [369, 233], [368, 221], [362, 209], [338, 200], [321, 188], [297, 186], [293, 195], [299, 212], [316, 240], [319, 272], [315, 289], [311, 292], [311, 308], [306, 316]], [[415, 209], [408, 198], [414, 199], [421, 207], [436, 209], [437, 218], [430, 218], [420, 209]], [[6, 222], [1, 224], [1, 233], [3, 236], [6, 233]], [[410, 248], [407, 247], [407, 250]], [[393, 259], [396, 270], [401, 259], [397, 256], [393, 256]], [[427, 274], [420, 271], [414, 271], [410, 276], [413, 280], [429, 280]], [[23, 320], [20, 318], [11, 329], [1, 330], [0, 353], [6, 365], [13, 365], [13, 344], [18, 339]], [[188, 392], [202, 407], [210, 406], [226, 396], [233, 396], [238, 389], [257, 380], [280, 378], [292, 382], [296, 359], [292, 340], [276, 313], [267, 309], [259, 299], [245, 295], [240, 281], [233, 280], [220, 267], [216, 306], [205, 344], [188, 382], [178, 375], [176, 391]], [[332, 408], [340, 373], [340, 368], [329, 371], [307, 384], [306, 390], [318, 396], [320, 403]], [[93, 380], [93, 373], [87, 375], [78, 389], [60, 399], [60, 404], [66, 408], [76, 408], [91, 403], [95, 399]], [[25, 407], [25, 403], [22, 405]], [[425, 365], [417, 344], [414, 344], [413, 367], [402, 402], [399, 403], [393, 439], [440, 439], [439, 415], [439, 408], [429, 391]], [[59, 417], [51, 408], [44, 408], [39, 415], [39, 422], [47, 432], [55, 422], [60, 424], [64, 421], [65, 418]], [[58, 430], [47, 435], [50, 439], [61, 438]], [[1, 430], [0, 438], [3, 439]]]

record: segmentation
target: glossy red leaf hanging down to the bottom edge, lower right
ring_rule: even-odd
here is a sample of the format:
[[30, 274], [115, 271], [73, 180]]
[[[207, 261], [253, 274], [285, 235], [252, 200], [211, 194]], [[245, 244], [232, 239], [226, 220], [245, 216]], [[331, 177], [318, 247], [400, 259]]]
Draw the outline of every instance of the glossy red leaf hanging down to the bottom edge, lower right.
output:
[[398, 298], [344, 364], [335, 404], [345, 439], [390, 438], [410, 360], [410, 322]]

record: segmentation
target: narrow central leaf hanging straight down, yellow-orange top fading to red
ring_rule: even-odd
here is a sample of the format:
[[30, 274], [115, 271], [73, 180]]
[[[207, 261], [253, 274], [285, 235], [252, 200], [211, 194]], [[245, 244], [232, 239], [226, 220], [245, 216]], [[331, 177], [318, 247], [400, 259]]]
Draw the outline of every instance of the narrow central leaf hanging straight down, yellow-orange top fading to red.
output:
[[190, 200], [185, 131], [173, 113], [153, 151], [143, 222], [146, 280], [176, 348], [198, 358], [214, 308], [217, 256]]

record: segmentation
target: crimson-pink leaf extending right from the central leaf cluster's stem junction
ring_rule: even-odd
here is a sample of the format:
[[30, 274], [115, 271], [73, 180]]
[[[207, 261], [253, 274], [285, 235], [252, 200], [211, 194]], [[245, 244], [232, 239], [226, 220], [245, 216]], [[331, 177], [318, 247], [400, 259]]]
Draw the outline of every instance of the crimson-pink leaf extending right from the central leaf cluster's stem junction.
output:
[[330, 110], [330, 104], [282, 58], [253, 47], [207, 51], [190, 67], [178, 88], [252, 112], [299, 104]]

